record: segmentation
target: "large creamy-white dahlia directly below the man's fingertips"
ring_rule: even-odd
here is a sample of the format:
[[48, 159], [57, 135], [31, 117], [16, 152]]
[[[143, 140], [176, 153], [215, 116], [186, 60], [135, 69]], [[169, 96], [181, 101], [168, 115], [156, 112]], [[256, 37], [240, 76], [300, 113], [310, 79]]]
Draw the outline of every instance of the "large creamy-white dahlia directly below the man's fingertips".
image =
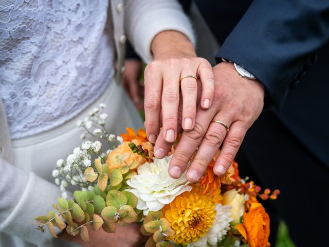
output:
[[138, 167], [138, 175], [127, 181], [132, 192], [138, 198], [137, 208], [147, 215], [149, 211], [158, 211], [165, 204], [171, 203], [176, 196], [191, 191], [186, 173], [179, 179], [173, 179], [168, 173], [171, 157], [161, 160], [154, 158], [153, 163], [145, 163]]

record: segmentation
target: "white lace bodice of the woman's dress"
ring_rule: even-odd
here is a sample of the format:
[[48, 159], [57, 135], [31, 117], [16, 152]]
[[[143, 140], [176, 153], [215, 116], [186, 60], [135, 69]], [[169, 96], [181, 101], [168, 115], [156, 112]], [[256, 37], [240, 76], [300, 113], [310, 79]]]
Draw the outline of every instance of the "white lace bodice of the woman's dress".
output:
[[114, 75], [108, 0], [0, 0], [0, 96], [11, 137], [77, 115]]

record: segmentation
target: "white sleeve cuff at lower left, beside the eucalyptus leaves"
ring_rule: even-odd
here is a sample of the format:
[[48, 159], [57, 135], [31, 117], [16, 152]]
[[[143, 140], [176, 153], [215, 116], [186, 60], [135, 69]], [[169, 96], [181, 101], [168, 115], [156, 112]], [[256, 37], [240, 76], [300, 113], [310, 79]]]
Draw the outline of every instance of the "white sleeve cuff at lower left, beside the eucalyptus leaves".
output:
[[[8, 218], [0, 225], [0, 231], [9, 235], [16, 235], [24, 240], [42, 245], [45, 244], [51, 235], [48, 230], [44, 233], [36, 230], [34, 218], [40, 215], [47, 215], [53, 203], [57, 203], [57, 198], [61, 197], [61, 190], [58, 186], [29, 173], [29, 180], [26, 189], [19, 203], [13, 209]], [[60, 233], [55, 227], [56, 234]]]

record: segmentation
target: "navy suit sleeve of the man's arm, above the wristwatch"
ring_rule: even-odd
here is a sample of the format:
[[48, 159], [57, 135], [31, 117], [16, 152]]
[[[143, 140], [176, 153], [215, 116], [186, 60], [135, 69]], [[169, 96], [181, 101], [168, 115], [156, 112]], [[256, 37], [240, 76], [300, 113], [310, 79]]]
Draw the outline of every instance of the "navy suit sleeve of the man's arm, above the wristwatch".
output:
[[329, 40], [329, 1], [254, 0], [216, 58], [257, 77], [277, 109]]

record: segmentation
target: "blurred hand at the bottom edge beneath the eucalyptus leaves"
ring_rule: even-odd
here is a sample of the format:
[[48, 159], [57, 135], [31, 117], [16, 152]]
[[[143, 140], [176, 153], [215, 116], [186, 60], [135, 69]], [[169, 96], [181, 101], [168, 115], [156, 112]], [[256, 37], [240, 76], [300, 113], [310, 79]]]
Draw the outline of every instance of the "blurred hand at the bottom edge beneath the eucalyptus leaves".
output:
[[64, 230], [59, 234], [59, 238], [80, 244], [83, 247], [137, 247], [144, 246], [147, 237], [141, 235], [139, 226], [136, 223], [125, 227], [116, 227], [115, 233], [106, 233], [102, 228], [98, 231], [88, 227], [90, 242], [83, 242], [80, 236], [71, 236]]

